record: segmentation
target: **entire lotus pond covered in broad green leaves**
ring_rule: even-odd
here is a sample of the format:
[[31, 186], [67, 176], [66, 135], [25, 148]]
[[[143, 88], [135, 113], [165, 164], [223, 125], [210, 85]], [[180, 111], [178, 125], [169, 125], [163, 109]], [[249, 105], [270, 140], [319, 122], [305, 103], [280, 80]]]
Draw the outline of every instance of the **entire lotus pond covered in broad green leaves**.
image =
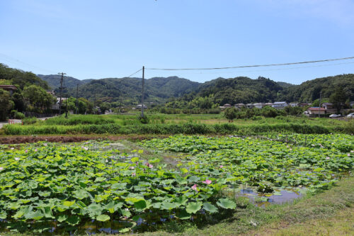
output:
[[[282, 191], [329, 189], [353, 174], [353, 143], [353, 135], [176, 135], [139, 142], [141, 150], [109, 142], [2, 145], [0, 232], [142, 232], [171, 222], [205, 224], [232, 212], [243, 189], [261, 201]], [[174, 164], [152, 153], [169, 153]]]

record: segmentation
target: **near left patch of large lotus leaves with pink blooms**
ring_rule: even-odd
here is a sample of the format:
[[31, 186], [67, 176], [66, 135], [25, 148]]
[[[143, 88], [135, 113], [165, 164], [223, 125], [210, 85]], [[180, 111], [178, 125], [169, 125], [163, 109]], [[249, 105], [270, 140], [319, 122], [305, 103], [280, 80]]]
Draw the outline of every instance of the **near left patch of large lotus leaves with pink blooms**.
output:
[[[164, 215], [173, 215], [168, 221], [188, 220], [192, 214], [205, 217], [202, 206], [210, 213], [236, 208], [227, 199], [218, 201], [217, 183], [224, 183], [224, 189], [227, 173], [193, 162], [186, 173], [132, 153], [96, 150], [89, 143], [46, 142], [16, 149], [0, 146], [0, 159], [0, 227], [12, 231], [34, 231], [53, 220], [64, 232], [91, 220], [117, 220], [125, 223], [120, 232], [127, 232], [139, 218], [147, 223]], [[206, 179], [215, 185], [204, 184]]]

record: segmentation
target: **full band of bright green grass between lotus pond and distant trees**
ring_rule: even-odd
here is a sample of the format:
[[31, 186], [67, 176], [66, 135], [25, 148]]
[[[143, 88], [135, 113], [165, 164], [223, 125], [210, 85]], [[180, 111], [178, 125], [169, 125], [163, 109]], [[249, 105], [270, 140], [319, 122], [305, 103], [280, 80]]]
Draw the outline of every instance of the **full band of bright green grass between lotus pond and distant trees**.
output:
[[79, 115], [38, 120], [29, 125], [5, 125], [4, 135], [64, 135], [64, 134], [241, 134], [262, 133], [354, 133], [354, 120], [327, 118], [278, 117], [261, 120], [235, 120], [228, 123], [221, 115], [149, 116], [149, 123], [139, 123], [137, 116]]

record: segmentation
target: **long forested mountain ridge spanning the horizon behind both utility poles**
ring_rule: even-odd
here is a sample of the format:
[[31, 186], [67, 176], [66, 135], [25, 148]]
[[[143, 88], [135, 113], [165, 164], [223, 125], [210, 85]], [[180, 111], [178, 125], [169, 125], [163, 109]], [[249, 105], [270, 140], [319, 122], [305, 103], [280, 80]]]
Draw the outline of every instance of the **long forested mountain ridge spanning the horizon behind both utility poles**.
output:
[[[52, 88], [58, 91], [59, 75], [38, 75]], [[142, 79], [140, 78], [105, 78], [79, 80], [65, 77], [64, 86], [71, 96], [76, 95], [76, 84], [79, 84], [79, 96], [93, 101], [120, 101], [125, 104], [136, 104], [141, 101]], [[154, 77], [145, 80], [144, 100], [164, 103], [171, 98], [191, 101], [196, 97], [212, 97], [218, 104], [253, 103], [270, 101], [312, 102], [319, 98], [329, 97], [336, 86], [345, 87], [348, 99], [354, 99], [354, 74], [341, 74], [334, 77], [312, 79], [299, 85], [285, 82], [274, 82], [271, 79], [258, 77], [217, 78], [209, 82], [198, 83], [179, 77]]]

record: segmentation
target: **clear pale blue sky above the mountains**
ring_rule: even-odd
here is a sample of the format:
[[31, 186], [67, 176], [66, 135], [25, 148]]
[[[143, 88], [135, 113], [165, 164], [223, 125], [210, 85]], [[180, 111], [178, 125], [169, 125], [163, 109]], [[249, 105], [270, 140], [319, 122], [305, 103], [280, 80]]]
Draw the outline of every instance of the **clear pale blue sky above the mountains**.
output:
[[[0, 1], [0, 62], [35, 74], [100, 79], [126, 77], [143, 65], [229, 67], [353, 57], [353, 12], [350, 0]], [[354, 60], [147, 70], [146, 77], [177, 75], [205, 82], [263, 76], [300, 84], [348, 73], [354, 73]]]

